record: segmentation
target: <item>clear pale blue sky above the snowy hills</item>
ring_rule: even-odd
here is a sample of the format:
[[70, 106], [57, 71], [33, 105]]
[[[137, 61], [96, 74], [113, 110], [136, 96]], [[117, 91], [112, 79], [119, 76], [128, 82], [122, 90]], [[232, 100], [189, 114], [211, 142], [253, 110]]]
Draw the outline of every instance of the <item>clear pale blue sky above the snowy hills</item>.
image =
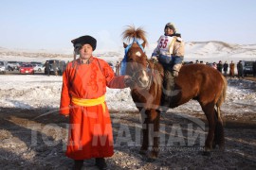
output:
[[142, 26], [151, 43], [169, 22], [186, 42], [255, 44], [255, 17], [255, 0], [1, 0], [0, 46], [65, 49], [91, 35], [115, 49], [125, 26]]

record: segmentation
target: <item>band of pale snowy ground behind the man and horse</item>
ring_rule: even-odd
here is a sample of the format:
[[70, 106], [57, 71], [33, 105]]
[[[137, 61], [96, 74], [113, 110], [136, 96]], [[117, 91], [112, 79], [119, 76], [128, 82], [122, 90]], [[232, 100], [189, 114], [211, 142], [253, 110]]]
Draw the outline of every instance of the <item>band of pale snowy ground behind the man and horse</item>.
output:
[[[59, 108], [62, 76], [6, 75], [0, 76], [0, 107], [4, 108]], [[130, 89], [107, 89], [106, 102], [110, 110], [136, 111]], [[198, 102], [190, 101], [174, 109], [175, 112], [200, 112]], [[227, 99], [222, 107], [228, 114], [256, 112], [256, 82], [229, 79]]]

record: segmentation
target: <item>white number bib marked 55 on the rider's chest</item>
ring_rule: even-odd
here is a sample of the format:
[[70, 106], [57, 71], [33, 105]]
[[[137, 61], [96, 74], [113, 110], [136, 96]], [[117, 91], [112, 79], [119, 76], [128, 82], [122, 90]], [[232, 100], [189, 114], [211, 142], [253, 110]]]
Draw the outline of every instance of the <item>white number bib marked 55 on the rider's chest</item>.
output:
[[174, 41], [175, 41], [174, 37], [162, 35], [159, 38], [158, 44], [157, 44], [160, 54], [165, 56], [171, 56], [173, 54]]

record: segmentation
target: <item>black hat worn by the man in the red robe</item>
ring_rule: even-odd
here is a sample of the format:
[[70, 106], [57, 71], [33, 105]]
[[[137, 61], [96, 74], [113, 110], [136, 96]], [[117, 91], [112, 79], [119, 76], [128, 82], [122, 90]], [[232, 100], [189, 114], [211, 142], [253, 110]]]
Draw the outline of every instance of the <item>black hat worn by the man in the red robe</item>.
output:
[[83, 44], [90, 44], [93, 51], [96, 49], [97, 41], [95, 38], [85, 35], [71, 41], [74, 44], [75, 49], [82, 47]]

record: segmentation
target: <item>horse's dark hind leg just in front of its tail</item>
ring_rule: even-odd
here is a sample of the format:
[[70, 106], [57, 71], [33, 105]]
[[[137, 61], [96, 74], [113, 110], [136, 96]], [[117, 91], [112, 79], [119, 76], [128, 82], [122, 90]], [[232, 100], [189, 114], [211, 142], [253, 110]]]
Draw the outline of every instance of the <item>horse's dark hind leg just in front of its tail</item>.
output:
[[214, 131], [216, 126], [216, 121], [214, 117], [215, 111], [214, 111], [214, 104], [211, 104], [211, 103], [207, 105], [201, 104], [201, 107], [202, 107], [202, 110], [204, 110], [209, 123], [209, 131], [208, 131], [207, 139], [205, 142], [205, 152], [207, 154], [207, 153], [210, 153], [210, 150], [212, 148], [213, 138], [214, 138]]

